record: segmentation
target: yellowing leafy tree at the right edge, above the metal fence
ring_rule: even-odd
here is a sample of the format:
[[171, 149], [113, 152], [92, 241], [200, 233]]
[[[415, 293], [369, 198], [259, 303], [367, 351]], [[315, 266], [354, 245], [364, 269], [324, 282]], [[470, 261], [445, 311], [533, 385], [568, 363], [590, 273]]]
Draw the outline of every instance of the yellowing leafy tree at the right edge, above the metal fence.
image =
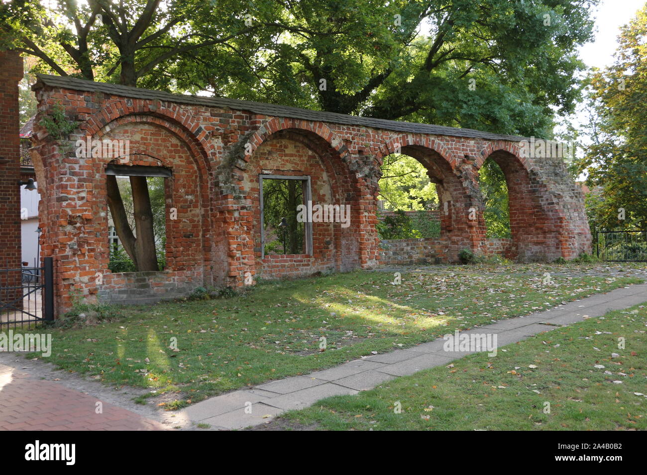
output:
[[[597, 116], [586, 132], [592, 143], [580, 161], [593, 190], [592, 227], [647, 229], [647, 5], [622, 28], [611, 67], [590, 78]], [[625, 220], [619, 219], [620, 208]]]

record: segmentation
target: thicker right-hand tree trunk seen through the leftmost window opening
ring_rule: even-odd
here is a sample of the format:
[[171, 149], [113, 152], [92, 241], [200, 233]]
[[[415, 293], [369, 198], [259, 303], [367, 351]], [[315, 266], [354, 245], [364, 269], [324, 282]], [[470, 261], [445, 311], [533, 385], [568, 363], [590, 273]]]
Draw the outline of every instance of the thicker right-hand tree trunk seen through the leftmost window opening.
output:
[[135, 249], [138, 271], [157, 271], [157, 253], [155, 252], [155, 233], [153, 233], [153, 211], [151, 198], [148, 195], [146, 176], [131, 176], [133, 189], [133, 209], [135, 213]]

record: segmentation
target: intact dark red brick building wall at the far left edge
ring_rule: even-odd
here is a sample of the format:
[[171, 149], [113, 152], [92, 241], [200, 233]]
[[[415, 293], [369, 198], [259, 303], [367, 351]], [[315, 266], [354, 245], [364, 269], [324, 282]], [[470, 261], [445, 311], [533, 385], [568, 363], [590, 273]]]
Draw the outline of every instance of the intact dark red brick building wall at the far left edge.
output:
[[[0, 52], [0, 269], [21, 268], [20, 233], [20, 120], [18, 81], [23, 59]], [[21, 272], [0, 273], [0, 286], [19, 286]], [[0, 301], [14, 301], [20, 290], [3, 291]], [[19, 302], [21, 304], [21, 302]]]

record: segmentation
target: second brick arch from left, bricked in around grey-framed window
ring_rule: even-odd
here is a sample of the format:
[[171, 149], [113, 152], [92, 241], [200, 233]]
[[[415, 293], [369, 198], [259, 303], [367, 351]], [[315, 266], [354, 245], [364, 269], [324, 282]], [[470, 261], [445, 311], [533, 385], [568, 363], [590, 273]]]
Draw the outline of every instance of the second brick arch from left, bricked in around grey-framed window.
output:
[[[256, 275], [262, 271], [266, 273], [271, 271], [274, 275], [283, 275], [289, 271], [289, 275], [299, 275], [300, 273], [308, 275], [317, 271], [344, 271], [358, 266], [374, 265], [373, 262], [377, 262], [375, 252], [369, 254], [369, 248], [375, 248], [373, 243], [377, 242], [377, 234], [373, 237], [373, 242], [370, 242], [373, 246], [367, 244], [366, 237], [360, 236], [367, 229], [366, 221], [371, 218], [371, 215], [365, 211], [369, 189], [364, 180], [351, 173], [353, 157], [347, 152], [343, 143], [340, 140], [335, 140], [325, 127], [304, 129], [296, 127], [298, 125], [302, 124], [299, 121], [281, 121], [272, 127], [276, 131], [265, 131], [245, 142], [254, 142], [256, 145], [250, 149], [250, 153], [246, 154], [245, 165], [238, 166], [240, 173], [236, 182], [241, 193], [246, 192], [242, 206], [251, 210], [251, 213], [245, 213], [245, 217], [240, 220], [239, 225], [230, 228], [233, 233], [230, 233], [232, 237], [229, 238], [229, 242], [230, 246], [234, 243], [236, 246], [243, 246], [247, 256], [253, 253], [254, 260], [252, 262], [249, 257], [241, 260], [241, 266], [238, 267], [239, 273], [249, 272]], [[262, 139], [263, 142], [258, 143], [259, 139]], [[288, 153], [289, 156], [301, 154], [300, 163], [307, 164], [309, 163], [307, 156], [311, 153], [316, 156], [318, 166], [314, 165], [312, 160], [305, 167], [293, 160], [272, 161], [265, 150], [267, 147], [278, 147], [283, 151], [291, 147], [291, 144], [293, 145]], [[302, 146], [302, 149], [298, 147], [295, 149], [294, 144]], [[258, 163], [259, 153], [263, 154], [265, 158], [262, 166]], [[261, 171], [263, 173], [271, 171], [271, 174], [311, 176], [313, 204], [317, 204], [317, 197], [321, 201], [323, 195], [318, 195], [316, 189], [322, 185], [321, 180], [324, 180], [325, 186], [329, 187], [331, 191], [331, 196], [326, 200], [331, 202], [320, 202], [320, 204], [349, 205], [351, 207], [351, 226], [339, 229], [338, 224], [325, 226], [322, 223], [313, 223], [313, 255], [281, 257], [281, 259], [266, 257], [261, 260], [260, 249], [256, 242], [258, 241], [258, 227], [261, 226], [256, 181]], [[328, 230], [325, 231], [325, 228]], [[236, 238], [241, 230], [245, 235], [256, 237], [252, 240]], [[322, 249], [325, 251], [322, 252]]]

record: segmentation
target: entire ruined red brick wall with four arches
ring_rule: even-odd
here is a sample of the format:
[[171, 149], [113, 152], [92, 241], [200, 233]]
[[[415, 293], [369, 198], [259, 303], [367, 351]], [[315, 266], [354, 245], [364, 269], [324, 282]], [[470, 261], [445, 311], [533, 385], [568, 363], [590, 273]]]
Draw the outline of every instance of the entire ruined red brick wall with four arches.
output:
[[[380, 164], [394, 152], [417, 158], [437, 184], [441, 238], [433, 245], [434, 259], [452, 262], [463, 248], [490, 249], [477, 185], [488, 157], [508, 182], [510, 257], [570, 259], [590, 249], [582, 193], [562, 160], [522, 158], [519, 137], [56, 76], [39, 76], [34, 89], [39, 110], [32, 159], [42, 198], [42, 253], [53, 256], [58, 269], [59, 313], [71, 305], [72, 292], [89, 301], [148, 301], [186, 295], [196, 286], [243, 286], [245, 275], [268, 279], [372, 268], [380, 262]], [[54, 140], [38, 125], [56, 103], [78, 122], [65, 140]], [[166, 204], [178, 216], [167, 218], [164, 271], [109, 273], [110, 160], [77, 158], [74, 142], [85, 136], [129, 139], [129, 165], [173, 172]], [[351, 226], [314, 223], [312, 255], [261, 259], [260, 173], [310, 176], [313, 201], [349, 204]], [[477, 210], [474, 220], [470, 207]], [[102, 284], [96, 273], [104, 275]]]

